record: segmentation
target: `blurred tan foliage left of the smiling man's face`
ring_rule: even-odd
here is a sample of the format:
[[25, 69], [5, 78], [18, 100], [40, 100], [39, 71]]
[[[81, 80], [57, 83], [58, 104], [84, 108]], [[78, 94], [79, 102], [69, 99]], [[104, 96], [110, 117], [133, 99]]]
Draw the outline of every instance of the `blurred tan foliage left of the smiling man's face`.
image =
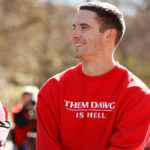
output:
[[0, 99], [4, 103], [10, 101], [14, 87], [41, 87], [50, 76], [76, 63], [70, 40], [74, 12], [36, 0], [0, 1]]

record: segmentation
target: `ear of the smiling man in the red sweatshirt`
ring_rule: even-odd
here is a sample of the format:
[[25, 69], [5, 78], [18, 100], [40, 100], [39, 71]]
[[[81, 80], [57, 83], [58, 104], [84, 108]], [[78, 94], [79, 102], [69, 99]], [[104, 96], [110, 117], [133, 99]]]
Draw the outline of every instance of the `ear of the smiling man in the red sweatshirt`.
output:
[[105, 41], [106, 42], [111, 42], [115, 41], [116, 38], [116, 29], [108, 29], [105, 31]]

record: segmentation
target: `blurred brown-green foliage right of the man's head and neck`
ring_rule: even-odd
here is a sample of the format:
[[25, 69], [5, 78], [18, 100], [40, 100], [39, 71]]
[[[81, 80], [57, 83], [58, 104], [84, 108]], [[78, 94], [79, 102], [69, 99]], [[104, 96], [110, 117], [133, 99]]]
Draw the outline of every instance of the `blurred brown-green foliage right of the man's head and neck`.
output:
[[127, 30], [117, 51], [120, 61], [150, 86], [150, 1], [135, 17], [126, 16]]

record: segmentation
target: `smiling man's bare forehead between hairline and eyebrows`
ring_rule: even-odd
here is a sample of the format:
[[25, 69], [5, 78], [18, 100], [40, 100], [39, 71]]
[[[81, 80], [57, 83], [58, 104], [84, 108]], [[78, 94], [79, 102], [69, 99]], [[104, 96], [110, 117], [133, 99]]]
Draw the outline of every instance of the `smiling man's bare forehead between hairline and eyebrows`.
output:
[[79, 10], [74, 19], [74, 24], [77, 23], [97, 23], [96, 13], [89, 10]]

